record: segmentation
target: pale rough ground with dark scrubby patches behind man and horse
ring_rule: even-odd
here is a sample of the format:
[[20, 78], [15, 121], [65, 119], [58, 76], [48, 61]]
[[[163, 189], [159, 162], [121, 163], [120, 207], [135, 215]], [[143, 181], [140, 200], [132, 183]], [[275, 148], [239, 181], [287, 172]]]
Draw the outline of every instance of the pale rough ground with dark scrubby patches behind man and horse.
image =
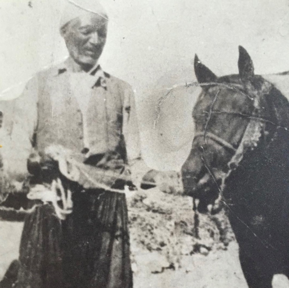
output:
[[[127, 200], [134, 288], [247, 287], [223, 213], [197, 219], [189, 197], [158, 188], [128, 192]], [[0, 221], [1, 278], [17, 258], [22, 227], [22, 222]], [[281, 277], [274, 287], [288, 287], [286, 281]]]

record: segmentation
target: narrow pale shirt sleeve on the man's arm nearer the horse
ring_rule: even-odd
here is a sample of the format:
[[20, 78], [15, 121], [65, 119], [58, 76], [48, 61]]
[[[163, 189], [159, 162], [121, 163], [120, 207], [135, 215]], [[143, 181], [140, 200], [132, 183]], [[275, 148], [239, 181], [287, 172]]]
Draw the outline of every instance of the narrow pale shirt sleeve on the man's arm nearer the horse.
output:
[[138, 117], [135, 96], [131, 87], [126, 88], [123, 105], [123, 135], [126, 142], [128, 163], [132, 182], [139, 188], [141, 179], [149, 170], [141, 155]]

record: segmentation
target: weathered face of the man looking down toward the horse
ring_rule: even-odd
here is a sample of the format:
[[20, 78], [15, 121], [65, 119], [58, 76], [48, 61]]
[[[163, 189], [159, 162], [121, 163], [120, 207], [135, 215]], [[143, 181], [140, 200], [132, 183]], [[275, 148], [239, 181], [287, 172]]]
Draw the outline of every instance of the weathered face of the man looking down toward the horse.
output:
[[107, 36], [107, 20], [86, 13], [68, 23], [63, 37], [73, 60], [83, 68], [90, 69], [98, 61]]

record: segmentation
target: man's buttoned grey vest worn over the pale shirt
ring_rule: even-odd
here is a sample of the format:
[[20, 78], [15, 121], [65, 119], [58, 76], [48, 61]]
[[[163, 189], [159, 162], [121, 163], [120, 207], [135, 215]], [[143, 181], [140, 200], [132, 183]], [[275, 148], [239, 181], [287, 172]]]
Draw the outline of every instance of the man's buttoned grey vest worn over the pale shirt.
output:
[[[90, 154], [116, 152], [126, 161], [122, 131], [123, 102], [127, 91], [123, 86], [126, 83], [107, 73], [104, 75], [106, 87], [96, 83], [89, 96], [85, 142]], [[70, 88], [69, 74], [59, 70], [56, 76], [39, 79], [38, 122], [34, 139], [37, 150], [60, 144], [76, 152], [83, 151], [86, 148], [83, 128], [83, 115]]]

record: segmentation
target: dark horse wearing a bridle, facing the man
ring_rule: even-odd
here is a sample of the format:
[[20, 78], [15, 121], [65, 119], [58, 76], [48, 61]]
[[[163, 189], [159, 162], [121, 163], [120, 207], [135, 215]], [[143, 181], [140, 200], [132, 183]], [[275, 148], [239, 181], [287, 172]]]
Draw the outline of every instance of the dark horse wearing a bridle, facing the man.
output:
[[289, 102], [242, 46], [238, 70], [217, 77], [195, 55], [202, 91], [182, 182], [199, 212], [225, 208], [248, 286], [269, 288], [289, 277]]

